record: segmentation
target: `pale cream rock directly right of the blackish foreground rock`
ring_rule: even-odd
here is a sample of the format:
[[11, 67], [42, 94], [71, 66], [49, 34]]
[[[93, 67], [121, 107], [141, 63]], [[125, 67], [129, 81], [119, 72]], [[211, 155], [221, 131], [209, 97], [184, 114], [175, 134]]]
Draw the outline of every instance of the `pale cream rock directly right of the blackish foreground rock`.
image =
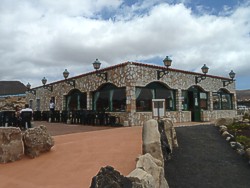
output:
[[158, 166], [155, 159], [149, 153], [142, 155], [138, 158], [136, 168], [141, 168], [147, 173], [151, 174], [155, 180], [155, 188], [168, 188], [168, 183], [165, 179], [164, 169], [162, 166]]

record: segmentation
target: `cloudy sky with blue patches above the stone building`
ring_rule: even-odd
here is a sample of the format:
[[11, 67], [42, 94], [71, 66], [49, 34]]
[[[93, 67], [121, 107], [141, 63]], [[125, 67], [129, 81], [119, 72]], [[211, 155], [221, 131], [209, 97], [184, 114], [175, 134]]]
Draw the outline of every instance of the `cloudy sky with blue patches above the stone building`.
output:
[[0, 80], [31, 87], [127, 61], [236, 73], [250, 89], [250, 0], [0, 0]]

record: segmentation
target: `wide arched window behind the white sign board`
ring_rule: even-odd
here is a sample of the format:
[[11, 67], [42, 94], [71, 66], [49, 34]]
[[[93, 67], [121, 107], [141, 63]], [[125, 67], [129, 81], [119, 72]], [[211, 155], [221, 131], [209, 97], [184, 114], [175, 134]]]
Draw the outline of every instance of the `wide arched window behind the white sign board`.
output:
[[152, 99], [165, 99], [167, 111], [175, 110], [175, 90], [153, 82], [146, 87], [136, 87], [136, 111], [152, 111]]

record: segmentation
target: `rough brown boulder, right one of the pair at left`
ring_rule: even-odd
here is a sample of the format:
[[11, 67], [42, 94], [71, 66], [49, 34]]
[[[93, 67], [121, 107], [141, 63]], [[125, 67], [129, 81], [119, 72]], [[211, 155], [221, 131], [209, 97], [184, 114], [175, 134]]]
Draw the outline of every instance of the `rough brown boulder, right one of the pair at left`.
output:
[[50, 151], [54, 146], [53, 138], [43, 125], [26, 130], [23, 135], [23, 142], [25, 154], [31, 158], [37, 157], [43, 152]]

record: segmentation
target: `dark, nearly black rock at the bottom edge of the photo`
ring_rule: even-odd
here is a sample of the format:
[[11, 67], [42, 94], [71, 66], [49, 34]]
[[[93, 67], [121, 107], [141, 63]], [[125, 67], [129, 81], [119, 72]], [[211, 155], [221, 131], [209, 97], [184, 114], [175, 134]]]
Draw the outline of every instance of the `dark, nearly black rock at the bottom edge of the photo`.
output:
[[[90, 188], [132, 188], [132, 181], [111, 166], [102, 167], [92, 178]], [[139, 188], [139, 187], [138, 187]]]

